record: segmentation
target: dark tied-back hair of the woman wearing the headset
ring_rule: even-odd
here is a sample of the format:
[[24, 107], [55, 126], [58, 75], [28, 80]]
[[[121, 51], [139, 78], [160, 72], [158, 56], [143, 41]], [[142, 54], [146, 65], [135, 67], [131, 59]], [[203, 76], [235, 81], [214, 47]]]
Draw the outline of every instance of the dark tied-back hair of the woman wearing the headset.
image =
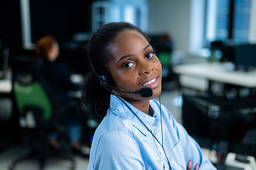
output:
[[[113, 22], [102, 25], [87, 44], [87, 54], [90, 56], [91, 64], [98, 75], [104, 75], [108, 84], [115, 86], [107, 63], [111, 61], [111, 45], [115, 41], [118, 33], [131, 29], [140, 32], [145, 39], [150, 42], [150, 38], [140, 28], [127, 22]], [[87, 112], [98, 115], [94, 118], [101, 120], [109, 108], [110, 92], [100, 85], [99, 79], [90, 71], [86, 76], [85, 84], [82, 90], [82, 105]], [[99, 106], [97, 106], [99, 104]], [[105, 105], [104, 105], [105, 104]], [[102, 108], [99, 108], [102, 105]], [[101, 117], [101, 118], [100, 118]]]

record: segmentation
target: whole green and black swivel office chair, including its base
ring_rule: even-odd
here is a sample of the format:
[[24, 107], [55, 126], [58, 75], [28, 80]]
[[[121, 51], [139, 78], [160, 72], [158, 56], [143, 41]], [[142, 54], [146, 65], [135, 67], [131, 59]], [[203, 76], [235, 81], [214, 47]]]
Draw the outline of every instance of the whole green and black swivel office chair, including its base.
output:
[[62, 145], [60, 143], [58, 151], [51, 150], [48, 144], [49, 133], [57, 131], [62, 137], [66, 134], [65, 128], [60, 124], [63, 109], [58, 106], [51, 88], [40, 74], [40, 69], [30, 70], [27, 65], [22, 67], [26, 70], [14, 71], [13, 95], [18, 112], [19, 131], [32, 141], [32, 145], [28, 155], [14, 160], [10, 169], [27, 159], [39, 160], [40, 169], [43, 169], [49, 157], [68, 159], [72, 163], [71, 169], [74, 169], [75, 162], [68, 141], [64, 141]]

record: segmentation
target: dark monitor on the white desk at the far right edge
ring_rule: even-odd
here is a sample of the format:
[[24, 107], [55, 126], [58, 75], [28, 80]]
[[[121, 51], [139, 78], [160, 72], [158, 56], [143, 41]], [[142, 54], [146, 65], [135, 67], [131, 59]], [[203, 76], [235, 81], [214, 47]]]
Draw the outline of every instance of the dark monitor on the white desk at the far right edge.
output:
[[256, 67], [256, 44], [242, 44], [234, 48], [236, 70], [248, 71]]

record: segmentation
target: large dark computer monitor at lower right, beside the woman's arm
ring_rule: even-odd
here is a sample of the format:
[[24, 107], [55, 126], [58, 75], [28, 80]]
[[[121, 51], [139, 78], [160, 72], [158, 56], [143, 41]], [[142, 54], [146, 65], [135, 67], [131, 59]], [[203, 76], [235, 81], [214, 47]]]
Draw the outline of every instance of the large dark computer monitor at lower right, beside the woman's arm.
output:
[[[255, 100], [229, 100], [220, 96], [183, 95], [182, 122], [201, 147], [226, 141], [229, 151], [256, 156], [256, 137], [247, 135], [256, 129]], [[245, 153], [245, 148], [247, 153]]]

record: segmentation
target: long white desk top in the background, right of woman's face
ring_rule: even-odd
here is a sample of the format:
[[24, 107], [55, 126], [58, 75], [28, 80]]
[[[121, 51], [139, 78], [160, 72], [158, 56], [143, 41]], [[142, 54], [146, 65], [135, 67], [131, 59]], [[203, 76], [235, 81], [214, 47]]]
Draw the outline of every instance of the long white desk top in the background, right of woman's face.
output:
[[178, 65], [173, 67], [173, 71], [177, 74], [205, 78], [220, 83], [256, 87], [256, 71], [234, 71], [234, 65], [231, 62]]

